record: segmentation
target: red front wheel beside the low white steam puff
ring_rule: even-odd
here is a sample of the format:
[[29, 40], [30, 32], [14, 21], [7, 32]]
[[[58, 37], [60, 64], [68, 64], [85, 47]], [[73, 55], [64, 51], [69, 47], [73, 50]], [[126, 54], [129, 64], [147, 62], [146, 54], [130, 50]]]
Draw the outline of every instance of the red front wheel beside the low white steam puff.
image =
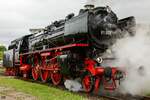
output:
[[82, 86], [85, 92], [92, 92], [94, 89], [94, 83], [94, 77], [90, 72], [87, 72], [87, 74], [82, 79]]

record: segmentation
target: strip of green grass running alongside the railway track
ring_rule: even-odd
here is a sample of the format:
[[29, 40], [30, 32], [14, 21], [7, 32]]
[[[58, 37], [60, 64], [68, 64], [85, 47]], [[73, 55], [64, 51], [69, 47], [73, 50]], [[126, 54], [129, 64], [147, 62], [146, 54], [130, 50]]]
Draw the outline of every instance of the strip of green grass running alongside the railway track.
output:
[[86, 98], [67, 90], [0, 76], [0, 86], [33, 95], [38, 100], [85, 100]]

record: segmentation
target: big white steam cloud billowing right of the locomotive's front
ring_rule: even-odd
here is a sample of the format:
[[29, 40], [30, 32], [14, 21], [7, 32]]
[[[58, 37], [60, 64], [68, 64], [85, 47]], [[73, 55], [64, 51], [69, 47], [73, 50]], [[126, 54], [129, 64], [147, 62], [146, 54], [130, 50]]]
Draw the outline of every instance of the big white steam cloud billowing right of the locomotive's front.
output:
[[149, 27], [140, 27], [134, 37], [118, 40], [112, 50], [117, 60], [111, 66], [125, 69], [127, 75], [121, 83], [121, 92], [133, 95], [150, 92]]

